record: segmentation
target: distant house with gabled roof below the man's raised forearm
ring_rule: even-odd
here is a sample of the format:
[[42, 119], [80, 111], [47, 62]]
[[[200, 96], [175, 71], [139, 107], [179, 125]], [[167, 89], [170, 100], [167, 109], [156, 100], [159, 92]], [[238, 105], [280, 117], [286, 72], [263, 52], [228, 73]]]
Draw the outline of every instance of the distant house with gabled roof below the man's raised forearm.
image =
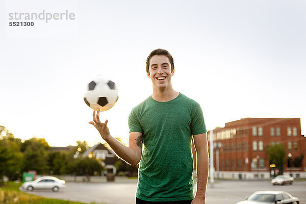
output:
[[101, 161], [101, 165], [106, 168], [105, 173], [116, 174], [115, 163], [119, 160], [112, 149], [108, 149], [104, 144], [96, 144], [83, 152], [82, 157], [96, 158]]

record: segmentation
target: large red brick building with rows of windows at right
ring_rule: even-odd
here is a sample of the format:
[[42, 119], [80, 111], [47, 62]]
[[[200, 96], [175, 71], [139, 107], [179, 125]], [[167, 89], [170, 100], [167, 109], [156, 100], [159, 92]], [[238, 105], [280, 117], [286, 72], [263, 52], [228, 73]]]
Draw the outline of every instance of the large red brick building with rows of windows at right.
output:
[[[300, 118], [243, 118], [225, 123], [213, 130], [214, 169], [216, 177], [228, 179], [256, 179], [270, 177], [271, 170], [267, 146], [283, 143], [287, 151], [284, 172], [299, 177], [305, 170], [306, 157], [299, 168], [292, 160], [306, 156], [306, 138], [301, 135]], [[210, 142], [210, 132], [208, 132]]]

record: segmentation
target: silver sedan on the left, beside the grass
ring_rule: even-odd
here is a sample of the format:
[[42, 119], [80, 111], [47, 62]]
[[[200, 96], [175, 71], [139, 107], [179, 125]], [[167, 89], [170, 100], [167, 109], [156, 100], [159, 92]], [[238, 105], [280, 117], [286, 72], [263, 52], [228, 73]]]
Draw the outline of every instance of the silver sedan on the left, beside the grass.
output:
[[34, 189], [46, 190], [52, 189], [55, 192], [58, 192], [60, 188], [65, 188], [65, 181], [59, 180], [54, 176], [42, 176], [32, 182], [24, 182], [21, 185], [21, 188], [28, 191], [33, 191]]

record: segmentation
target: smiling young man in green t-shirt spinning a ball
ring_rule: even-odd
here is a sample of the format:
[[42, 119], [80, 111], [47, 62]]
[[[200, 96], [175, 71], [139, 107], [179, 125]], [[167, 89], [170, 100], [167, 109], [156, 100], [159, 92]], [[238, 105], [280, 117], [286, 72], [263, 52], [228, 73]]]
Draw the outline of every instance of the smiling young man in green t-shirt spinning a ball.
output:
[[[172, 56], [153, 50], [146, 61], [153, 92], [129, 116], [129, 146], [110, 135], [99, 110], [93, 124], [116, 154], [132, 165], [139, 163], [136, 204], [205, 204], [209, 171], [207, 130], [198, 103], [175, 91]], [[193, 195], [191, 141], [197, 152], [197, 193]]]

